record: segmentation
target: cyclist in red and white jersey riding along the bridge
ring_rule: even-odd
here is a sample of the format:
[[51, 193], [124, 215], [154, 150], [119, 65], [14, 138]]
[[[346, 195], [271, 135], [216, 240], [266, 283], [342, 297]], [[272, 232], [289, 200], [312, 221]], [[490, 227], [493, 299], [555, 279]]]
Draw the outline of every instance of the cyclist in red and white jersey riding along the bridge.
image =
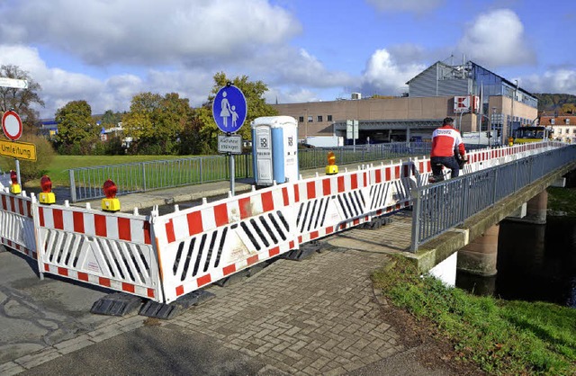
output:
[[[456, 153], [456, 154], [455, 154]], [[432, 133], [432, 150], [430, 151], [430, 163], [432, 164], [432, 175], [435, 180], [444, 180], [442, 166], [449, 168], [450, 177], [456, 177], [460, 173], [457, 155], [464, 160], [466, 150], [460, 131], [454, 128], [454, 119], [445, 118], [442, 127], [437, 128]]]

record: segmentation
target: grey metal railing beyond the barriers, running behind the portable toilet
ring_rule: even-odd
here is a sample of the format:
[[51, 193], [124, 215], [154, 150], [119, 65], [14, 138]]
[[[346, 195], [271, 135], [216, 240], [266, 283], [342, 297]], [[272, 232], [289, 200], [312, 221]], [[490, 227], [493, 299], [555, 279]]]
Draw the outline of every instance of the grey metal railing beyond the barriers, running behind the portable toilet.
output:
[[[356, 147], [300, 149], [301, 170], [324, 167], [327, 154], [336, 154], [338, 165], [363, 163], [393, 157], [428, 154], [429, 142], [393, 142]], [[235, 178], [251, 178], [252, 154], [235, 158]], [[187, 157], [112, 166], [80, 167], [68, 170], [72, 202], [104, 197], [103, 183], [112, 179], [117, 194], [147, 192], [183, 185], [204, 184], [229, 180], [229, 156]]]

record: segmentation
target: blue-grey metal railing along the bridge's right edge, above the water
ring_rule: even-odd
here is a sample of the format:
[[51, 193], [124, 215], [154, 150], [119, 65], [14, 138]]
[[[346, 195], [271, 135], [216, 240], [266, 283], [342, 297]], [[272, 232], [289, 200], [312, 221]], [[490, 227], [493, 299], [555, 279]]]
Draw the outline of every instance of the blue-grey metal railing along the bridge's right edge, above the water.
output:
[[576, 147], [559, 148], [414, 188], [410, 250], [416, 252], [422, 243], [574, 160]]

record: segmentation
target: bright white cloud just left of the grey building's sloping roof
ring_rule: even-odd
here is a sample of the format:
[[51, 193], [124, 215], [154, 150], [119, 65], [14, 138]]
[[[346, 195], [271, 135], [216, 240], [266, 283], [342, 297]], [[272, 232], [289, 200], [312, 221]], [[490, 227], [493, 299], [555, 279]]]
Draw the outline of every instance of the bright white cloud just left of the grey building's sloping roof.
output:
[[417, 63], [399, 65], [387, 49], [378, 49], [367, 62], [361, 91], [365, 95], [400, 95], [406, 82], [425, 68]]

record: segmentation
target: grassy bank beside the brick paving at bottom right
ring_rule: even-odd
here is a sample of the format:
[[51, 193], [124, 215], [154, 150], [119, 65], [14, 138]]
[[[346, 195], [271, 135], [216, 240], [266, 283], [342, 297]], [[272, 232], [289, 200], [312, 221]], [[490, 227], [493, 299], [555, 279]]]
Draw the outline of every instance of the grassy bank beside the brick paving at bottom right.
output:
[[374, 285], [415, 318], [431, 321], [460, 360], [489, 374], [576, 374], [576, 309], [497, 300], [420, 277], [398, 257], [373, 275]]

